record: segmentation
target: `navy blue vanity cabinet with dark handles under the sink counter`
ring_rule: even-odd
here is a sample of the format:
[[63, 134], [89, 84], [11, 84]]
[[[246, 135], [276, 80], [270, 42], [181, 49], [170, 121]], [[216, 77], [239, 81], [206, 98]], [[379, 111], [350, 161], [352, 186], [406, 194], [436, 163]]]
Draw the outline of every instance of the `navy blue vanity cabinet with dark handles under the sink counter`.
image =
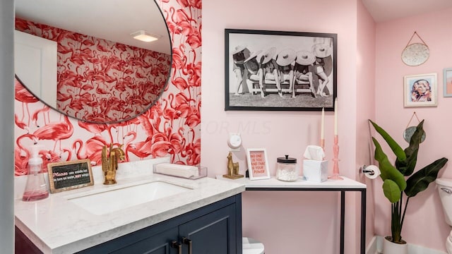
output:
[[80, 253], [242, 254], [242, 195], [206, 205]]

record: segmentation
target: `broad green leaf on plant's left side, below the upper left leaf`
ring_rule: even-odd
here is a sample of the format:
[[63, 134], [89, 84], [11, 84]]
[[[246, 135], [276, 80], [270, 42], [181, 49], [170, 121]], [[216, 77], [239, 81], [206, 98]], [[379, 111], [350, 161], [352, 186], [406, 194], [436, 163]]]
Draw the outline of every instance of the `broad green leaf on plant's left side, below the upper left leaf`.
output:
[[399, 191], [405, 190], [407, 187], [407, 183], [405, 181], [405, 177], [400, 171], [396, 169], [396, 167], [389, 162], [388, 156], [381, 149], [380, 143], [372, 137], [375, 145], [375, 159], [379, 162], [379, 168], [381, 171], [381, 179], [386, 181], [386, 179], [390, 179], [398, 185]]

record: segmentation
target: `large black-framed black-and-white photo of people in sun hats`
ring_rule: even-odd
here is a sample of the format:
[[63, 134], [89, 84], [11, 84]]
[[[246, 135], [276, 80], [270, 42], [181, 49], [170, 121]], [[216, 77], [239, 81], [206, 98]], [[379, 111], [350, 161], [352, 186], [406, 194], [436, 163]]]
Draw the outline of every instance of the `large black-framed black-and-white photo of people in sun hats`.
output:
[[225, 110], [334, 110], [337, 34], [225, 29]]

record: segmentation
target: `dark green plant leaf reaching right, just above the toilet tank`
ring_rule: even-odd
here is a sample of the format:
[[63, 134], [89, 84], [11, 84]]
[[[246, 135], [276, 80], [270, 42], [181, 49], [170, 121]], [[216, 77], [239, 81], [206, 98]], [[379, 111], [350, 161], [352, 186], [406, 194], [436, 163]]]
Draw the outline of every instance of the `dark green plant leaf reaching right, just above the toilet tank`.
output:
[[414, 197], [417, 193], [424, 191], [430, 183], [436, 180], [438, 177], [438, 172], [444, 167], [448, 159], [441, 158], [436, 159], [432, 164], [420, 169], [415, 174], [410, 176], [407, 180], [407, 188], [405, 189], [405, 195]]

